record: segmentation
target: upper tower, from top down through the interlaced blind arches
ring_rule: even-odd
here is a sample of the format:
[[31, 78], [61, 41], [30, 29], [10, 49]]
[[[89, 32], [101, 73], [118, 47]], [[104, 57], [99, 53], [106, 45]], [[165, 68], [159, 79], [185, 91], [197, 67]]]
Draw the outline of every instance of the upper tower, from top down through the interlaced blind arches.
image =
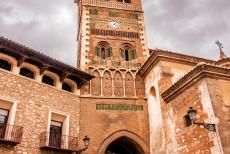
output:
[[144, 97], [149, 56], [141, 0], [77, 0], [77, 67], [96, 78], [81, 95]]

